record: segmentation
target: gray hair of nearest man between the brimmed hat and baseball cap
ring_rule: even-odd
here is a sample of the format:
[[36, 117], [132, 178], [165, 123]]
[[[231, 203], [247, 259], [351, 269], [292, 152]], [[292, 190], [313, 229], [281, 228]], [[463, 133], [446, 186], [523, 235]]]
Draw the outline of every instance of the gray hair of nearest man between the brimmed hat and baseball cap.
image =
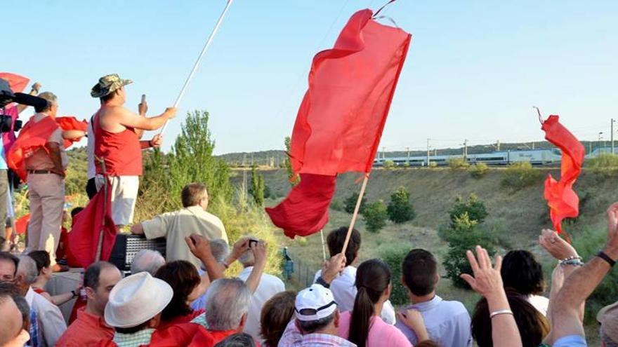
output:
[[251, 290], [239, 278], [219, 278], [206, 292], [206, 322], [211, 330], [237, 329], [249, 312]]

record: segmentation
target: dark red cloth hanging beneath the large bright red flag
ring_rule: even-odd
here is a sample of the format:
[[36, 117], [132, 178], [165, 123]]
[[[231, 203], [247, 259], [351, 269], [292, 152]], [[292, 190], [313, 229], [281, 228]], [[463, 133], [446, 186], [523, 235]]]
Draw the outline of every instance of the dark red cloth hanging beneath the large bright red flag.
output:
[[289, 238], [308, 236], [328, 222], [328, 207], [335, 193], [336, 176], [301, 174], [301, 183], [276, 207], [266, 208], [272, 224]]

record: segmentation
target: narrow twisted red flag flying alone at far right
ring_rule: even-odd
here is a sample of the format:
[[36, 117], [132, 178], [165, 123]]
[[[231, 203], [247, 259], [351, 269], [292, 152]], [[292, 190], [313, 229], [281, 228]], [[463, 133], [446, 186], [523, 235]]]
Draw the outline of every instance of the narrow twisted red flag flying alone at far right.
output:
[[573, 184], [579, 177], [581, 165], [584, 164], [586, 149], [574, 135], [558, 121], [558, 116], [551, 115], [543, 122], [545, 139], [563, 151], [560, 165], [560, 181], [551, 174], [545, 180], [545, 198], [550, 210], [553, 227], [558, 233], [563, 232], [562, 221], [579, 215], [579, 198], [573, 190]]

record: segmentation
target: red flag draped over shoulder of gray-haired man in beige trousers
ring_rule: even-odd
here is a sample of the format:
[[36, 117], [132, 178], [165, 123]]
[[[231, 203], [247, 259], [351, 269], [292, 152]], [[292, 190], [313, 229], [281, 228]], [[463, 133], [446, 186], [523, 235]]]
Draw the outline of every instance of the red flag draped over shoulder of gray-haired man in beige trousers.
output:
[[13, 169], [24, 182], [27, 177], [26, 158], [32, 156], [39, 148], [47, 150], [45, 147], [47, 140], [52, 132], [58, 129], [58, 124], [51, 117], [45, 117], [38, 122], [34, 122], [33, 118], [34, 116], [30, 117], [28, 123], [24, 125], [18, 139], [15, 140], [6, 156], [9, 168]]

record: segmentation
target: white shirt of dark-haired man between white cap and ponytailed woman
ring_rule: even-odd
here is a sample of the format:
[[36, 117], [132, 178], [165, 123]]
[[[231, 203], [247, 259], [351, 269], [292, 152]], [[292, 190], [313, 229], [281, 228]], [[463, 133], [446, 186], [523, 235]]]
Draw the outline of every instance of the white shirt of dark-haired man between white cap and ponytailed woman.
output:
[[[315, 273], [314, 283], [320, 275], [322, 275], [322, 270]], [[354, 308], [354, 301], [358, 292], [354, 283], [356, 283], [356, 268], [351, 265], [346, 266], [341, 271], [341, 274], [337, 275], [331, 282], [330, 290], [333, 292], [339, 312], [352, 311]], [[393, 308], [393, 304], [390, 304], [390, 300], [386, 301], [382, 306], [380, 317], [390, 325], [395, 324], [395, 308]]]

